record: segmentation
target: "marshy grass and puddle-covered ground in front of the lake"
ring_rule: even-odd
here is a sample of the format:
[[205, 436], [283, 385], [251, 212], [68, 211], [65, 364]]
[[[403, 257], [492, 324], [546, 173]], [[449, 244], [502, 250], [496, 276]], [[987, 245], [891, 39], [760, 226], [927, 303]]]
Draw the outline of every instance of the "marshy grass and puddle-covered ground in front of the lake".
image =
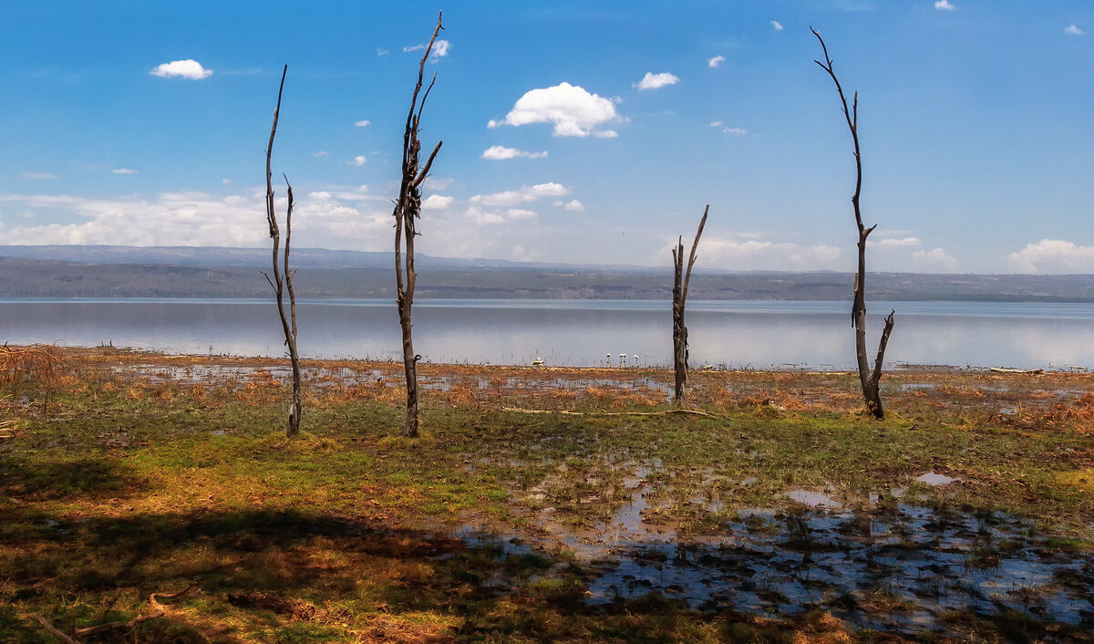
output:
[[851, 373], [698, 370], [700, 415], [422, 364], [407, 439], [398, 365], [312, 360], [287, 441], [282, 360], [50, 360], [0, 384], [0, 641], [191, 584], [81, 641], [1094, 641], [1091, 375], [905, 367], [875, 422]]

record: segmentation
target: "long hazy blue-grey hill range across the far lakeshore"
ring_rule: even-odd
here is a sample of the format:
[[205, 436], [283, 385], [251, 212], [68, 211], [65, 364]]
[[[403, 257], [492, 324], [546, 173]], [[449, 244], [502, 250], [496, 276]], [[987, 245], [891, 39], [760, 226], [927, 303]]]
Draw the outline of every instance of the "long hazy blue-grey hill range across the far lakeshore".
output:
[[[392, 253], [301, 249], [300, 298], [394, 298]], [[0, 297], [268, 297], [265, 249], [0, 246]], [[419, 298], [671, 299], [670, 268], [418, 258]], [[849, 300], [847, 273], [697, 272], [689, 297]], [[871, 273], [872, 300], [1094, 302], [1094, 275]]]

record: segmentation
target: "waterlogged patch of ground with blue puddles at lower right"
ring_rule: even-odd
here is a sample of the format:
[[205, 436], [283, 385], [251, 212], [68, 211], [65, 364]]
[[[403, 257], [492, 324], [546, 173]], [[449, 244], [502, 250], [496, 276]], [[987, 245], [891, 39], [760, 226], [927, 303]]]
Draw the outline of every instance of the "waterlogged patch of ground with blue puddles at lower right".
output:
[[[794, 490], [791, 507], [741, 509], [697, 532], [650, 519], [657, 502], [648, 476], [660, 467], [635, 467], [622, 481], [629, 498], [598, 525], [574, 528], [556, 508], [539, 507], [523, 529], [469, 522], [452, 534], [496, 549], [499, 561], [563, 553], [556, 568], [580, 564], [590, 606], [660, 595], [699, 611], [821, 609], [859, 628], [909, 635], [967, 635], [955, 616], [1004, 612], [1094, 628], [1094, 553], [1061, 549], [1034, 521], [917, 505], [907, 487], [842, 499]], [[957, 479], [927, 472], [913, 481]], [[534, 488], [526, 498], [535, 505], [543, 497]], [[718, 499], [691, 502], [723, 509]]]

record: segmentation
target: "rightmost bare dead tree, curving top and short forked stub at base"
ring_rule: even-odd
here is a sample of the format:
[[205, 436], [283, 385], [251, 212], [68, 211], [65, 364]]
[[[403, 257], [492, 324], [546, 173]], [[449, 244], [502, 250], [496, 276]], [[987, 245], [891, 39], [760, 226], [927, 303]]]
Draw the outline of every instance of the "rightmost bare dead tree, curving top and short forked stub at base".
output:
[[859, 207], [859, 197], [862, 194], [862, 154], [859, 148], [859, 92], [854, 92], [851, 101], [851, 108], [847, 107], [847, 96], [843, 88], [836, 78], [836, 71], [831, 66], [831, 58], [828, 56], [828, 47], [824, 44], [824, 38], [813, 27], [810, 27], [813, 35], [821, 42], [821, 49], [824, 51], [824, 62], [814, 60], [821, 69], [828, 72], [833, 82], [836, 83], [836, 91], [839, 93], [839, 101], [843, 107], [843, 117], [847, 119], [847, 127], [851, 130], [851, 140], [854, 142], [854, 195], [851, 197], [851, 205], [854, 207], [854, 222], [859, 227], [859, 269], [854, 274], [854, 303], [851, 304], [851, 325], [854, 326], [854, 353], [859, 363], [859, 381], [862, 383], [862, 399], [866, 403], [866, 411], [875, 418], [883, 418], [885, 411], [882, 409], [881, 379], [882, 364], [885, 360], [885, 347], [888, 345], [889, 334], [893, 333], [893, 317], [896, 311], [889, 311], [885, 318], [885, 327], [882, 330], [882, 338], [877, 344], [877, 357], [874, 359], [873, 369], [870, 368], [870, 358], [866, 355], [866, 238], [877, 228], [873, 225], [866, 228], [862, 225], [862, 210]]

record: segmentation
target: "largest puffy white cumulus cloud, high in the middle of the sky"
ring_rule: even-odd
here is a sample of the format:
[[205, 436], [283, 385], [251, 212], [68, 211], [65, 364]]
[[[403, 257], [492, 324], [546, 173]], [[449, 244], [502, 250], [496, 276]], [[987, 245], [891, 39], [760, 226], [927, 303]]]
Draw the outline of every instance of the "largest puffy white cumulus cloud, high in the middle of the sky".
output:
[[595, 128], [619, 119], [615, 104], [608, 99], [591, 94], [580, 85], [562, 82], [550, 88], [529, 90], [517, 99], [504, 119], [490, 120], [487, 127], [551, 123], [555, 125], [554, 134], [558, 137], [587, 137], [591, 134], [614, 136], [615, 133], [605, 135]]

